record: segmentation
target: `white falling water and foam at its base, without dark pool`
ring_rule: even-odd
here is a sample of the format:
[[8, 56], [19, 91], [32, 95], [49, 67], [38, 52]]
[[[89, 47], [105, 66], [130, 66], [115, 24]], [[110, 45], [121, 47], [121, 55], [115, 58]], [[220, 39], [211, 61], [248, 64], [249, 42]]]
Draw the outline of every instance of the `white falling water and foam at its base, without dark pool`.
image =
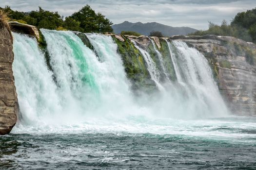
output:
[[[223, 117], [227, 113], [207, 61], [184, 43], [175, 42], [177, 56], [172, 53], [176, 59], [174, 65], [186, 75], [180, 76], [183, 84], [173, 82], [164, 93], [144, 100], [134, 97], [130, 91], [111, 36], [87, 34], [97, 56], [71, 32], [41, 31], [53, 72], [47, 69], [35, 39], [14, 34], [13, 69], [25, 121], [15, 126], [13, 133], [128, 132], [207, 136], [207, 129], [201, 132], [198, 128], [204, 120], [184, 119]], [[149, 54], [146, 57], [152, 61]], [[178, 60], [183, 63], [177, 64]], [[143, 101], [147, 102], [141, 104]], [[211, 127], [217, 123], [230, 125], [226, 120], [208, 122]]]

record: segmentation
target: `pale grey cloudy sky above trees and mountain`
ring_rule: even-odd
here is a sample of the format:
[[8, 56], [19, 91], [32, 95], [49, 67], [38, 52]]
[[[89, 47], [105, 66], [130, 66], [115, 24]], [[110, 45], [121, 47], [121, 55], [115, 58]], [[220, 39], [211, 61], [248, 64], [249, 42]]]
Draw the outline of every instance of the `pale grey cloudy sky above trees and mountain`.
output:
[[256, 0], [0, 0], [0, 6], [32, 11], [38, 6], [64, 17], [89, 4], [114, 24], [123, 21], [159, 22], [173, 27], [207, 29], [208, 21], [228, 22], [238, 12], [256, 7]]

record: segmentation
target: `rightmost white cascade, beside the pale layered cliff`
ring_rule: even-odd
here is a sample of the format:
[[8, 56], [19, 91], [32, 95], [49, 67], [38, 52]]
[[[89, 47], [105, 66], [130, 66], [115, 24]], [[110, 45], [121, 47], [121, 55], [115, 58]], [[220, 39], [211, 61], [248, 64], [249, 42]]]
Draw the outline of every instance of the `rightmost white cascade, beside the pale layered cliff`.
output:
[[185, 90], [191, 109], [195, 109], [200, 116], [226, 115], [228, 110], [219, 94], [206, 58], [195, 48], [189, 48], [184, 42], [172, 41], [176, 53], [172, 52], [171, 44], [167, 43], [174, 62], [177, 82]]

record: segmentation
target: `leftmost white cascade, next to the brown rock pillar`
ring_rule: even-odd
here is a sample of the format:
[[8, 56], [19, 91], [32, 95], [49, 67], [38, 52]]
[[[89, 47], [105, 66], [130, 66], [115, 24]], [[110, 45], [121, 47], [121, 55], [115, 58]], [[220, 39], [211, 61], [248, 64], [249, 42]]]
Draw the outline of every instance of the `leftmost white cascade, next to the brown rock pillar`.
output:
[[47, 69], [44, 62], [43, 53], [38, 49], [37, 40], [23, 34], [13, 35], [13, 74], [20, 110], [23, 120], [27, 123], [38, 123], [40, 119], [49, 118], [52, 113], [60, 112], [57, 86], [52, 80], [52, 72]]

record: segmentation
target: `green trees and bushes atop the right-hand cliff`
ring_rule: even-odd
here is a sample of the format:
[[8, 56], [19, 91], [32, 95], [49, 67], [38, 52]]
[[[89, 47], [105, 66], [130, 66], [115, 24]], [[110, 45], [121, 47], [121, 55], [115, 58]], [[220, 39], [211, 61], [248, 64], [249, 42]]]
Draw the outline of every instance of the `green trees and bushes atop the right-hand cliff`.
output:
[[200, 30], [188, 35], [222, 35], [234, 36], [247, 42], [256, 43], [256, 8], [236, 14], [231, 24], [223, 20], [221, 25], [209, 22], [208, 30]]

